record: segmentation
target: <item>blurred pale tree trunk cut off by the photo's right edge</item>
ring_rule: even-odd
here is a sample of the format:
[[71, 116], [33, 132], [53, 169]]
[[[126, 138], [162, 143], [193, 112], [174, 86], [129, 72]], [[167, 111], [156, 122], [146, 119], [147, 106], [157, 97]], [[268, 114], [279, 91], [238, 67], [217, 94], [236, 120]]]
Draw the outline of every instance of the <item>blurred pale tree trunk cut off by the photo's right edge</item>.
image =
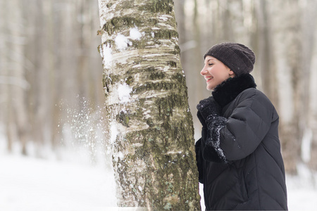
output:
[[[317, 106], [313, 105], [313, 98], [316, 98], [316, 23], [311, 20], [316, 20], [316, 1], [307, 1], [302, 5], [302, 40], [303, 41], [303, 94], [302, 99], [302, 115], [303, 119], [301, 127], [304, 130], [302, 141], [302, 160], [306, 162], [312, 170], [317, 170], [317, 124], [316, 113]], [[315, 51], [315, 52], [314, 52]]]

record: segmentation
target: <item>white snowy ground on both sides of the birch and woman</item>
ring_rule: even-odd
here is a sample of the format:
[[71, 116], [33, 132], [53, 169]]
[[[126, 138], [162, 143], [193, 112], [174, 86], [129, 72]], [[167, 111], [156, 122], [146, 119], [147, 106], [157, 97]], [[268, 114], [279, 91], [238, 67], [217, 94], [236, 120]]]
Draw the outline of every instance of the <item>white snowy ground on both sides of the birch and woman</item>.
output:
[[[317, 188], [302, 167], [287, 177], [290, 210], [317, 210]], [[113, 172], [58, 160], [0, 155], [0, 210], [127, 210], [116, 207]]]

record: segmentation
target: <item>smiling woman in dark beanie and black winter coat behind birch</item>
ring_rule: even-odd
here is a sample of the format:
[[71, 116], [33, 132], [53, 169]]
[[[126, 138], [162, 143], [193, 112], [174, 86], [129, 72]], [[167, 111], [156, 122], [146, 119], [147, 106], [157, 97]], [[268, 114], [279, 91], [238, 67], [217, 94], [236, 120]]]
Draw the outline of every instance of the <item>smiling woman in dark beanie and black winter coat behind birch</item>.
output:
[[212, 96], [199, 102], [195, 144], [206, 210], [287, 210], [278, 113], [256, 89], [255, 56], [247, 46], [217, 44], [201, 75]]

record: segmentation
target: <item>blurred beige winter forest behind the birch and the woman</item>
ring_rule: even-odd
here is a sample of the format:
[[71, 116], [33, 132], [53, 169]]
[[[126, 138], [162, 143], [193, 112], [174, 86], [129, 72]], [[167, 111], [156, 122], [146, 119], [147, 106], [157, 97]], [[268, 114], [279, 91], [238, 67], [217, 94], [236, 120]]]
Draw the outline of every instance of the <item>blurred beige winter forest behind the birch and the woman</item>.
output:
[[[317, 170], [317, 1], [174, 0], [195, 138], [196, 105], [211, 93], [203, 55], [236, 41], [256, 53], [251, 72], [280, 115], [288, 173]], [[104, 131], [98, 1], [0, 0], [0, 147], [58, 158], [83, 146], [97, 162]]]

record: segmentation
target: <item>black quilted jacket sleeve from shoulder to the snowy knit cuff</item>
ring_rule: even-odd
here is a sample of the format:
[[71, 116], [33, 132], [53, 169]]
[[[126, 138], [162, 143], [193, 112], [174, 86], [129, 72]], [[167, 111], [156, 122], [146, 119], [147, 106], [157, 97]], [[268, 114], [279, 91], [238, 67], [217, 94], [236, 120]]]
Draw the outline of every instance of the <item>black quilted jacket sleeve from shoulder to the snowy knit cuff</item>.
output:
[[227, 160], [240, 160], [253, 153], [278, 118], [271, 101], [261, 92], [245, 92], [237, 99], [225, 127], [220, 130], [220, 148]]

